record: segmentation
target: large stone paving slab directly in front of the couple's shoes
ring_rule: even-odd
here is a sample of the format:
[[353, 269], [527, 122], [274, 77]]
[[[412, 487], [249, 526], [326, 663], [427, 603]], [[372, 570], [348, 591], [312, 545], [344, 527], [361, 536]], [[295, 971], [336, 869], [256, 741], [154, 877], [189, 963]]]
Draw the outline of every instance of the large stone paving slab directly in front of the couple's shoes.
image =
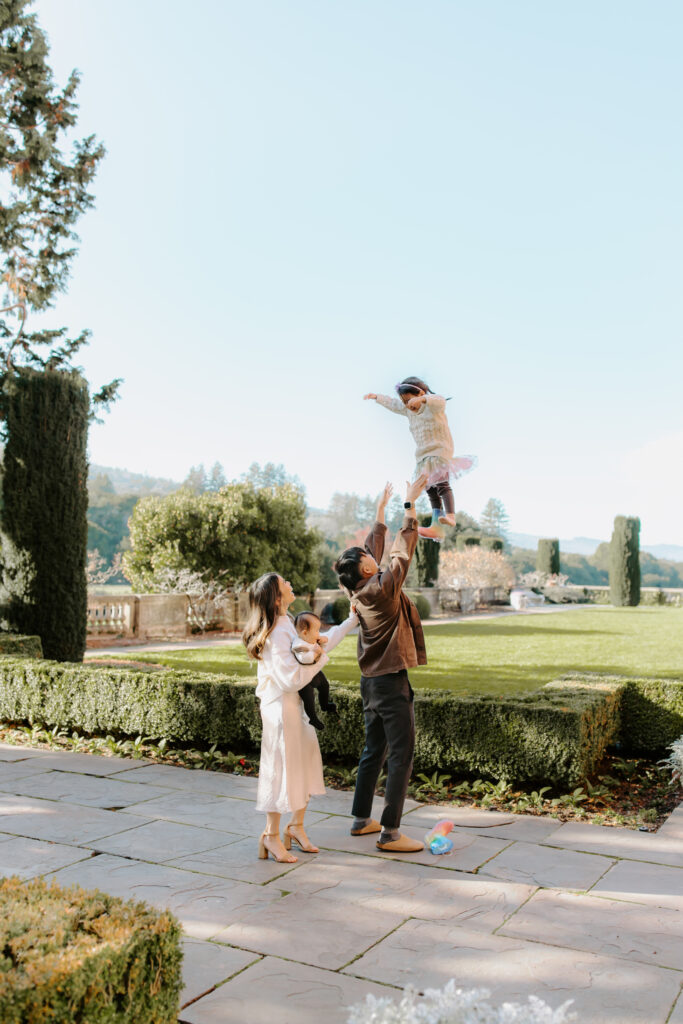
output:
[[439, 871], [423, 864], [332, 853], [290, 871], [283, 885], [301, 898], [337, 900], [356, 911], [387, 910], [404, 918], [452, 921], [493, 932], [535, 892], [481, 874]]

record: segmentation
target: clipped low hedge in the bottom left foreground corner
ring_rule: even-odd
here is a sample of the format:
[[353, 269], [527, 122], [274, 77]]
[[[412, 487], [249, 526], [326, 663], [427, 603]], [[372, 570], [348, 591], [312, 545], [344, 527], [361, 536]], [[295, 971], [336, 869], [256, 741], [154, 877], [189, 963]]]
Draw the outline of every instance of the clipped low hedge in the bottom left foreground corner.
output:
[[2, 1024], [175, 1024], [181, 929], [168, 911], [0, 880]]

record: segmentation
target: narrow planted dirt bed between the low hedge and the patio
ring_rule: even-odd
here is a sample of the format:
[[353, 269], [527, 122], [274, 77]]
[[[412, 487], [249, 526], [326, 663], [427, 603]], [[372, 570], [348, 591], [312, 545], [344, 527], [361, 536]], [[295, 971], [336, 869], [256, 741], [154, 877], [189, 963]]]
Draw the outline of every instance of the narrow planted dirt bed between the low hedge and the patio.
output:
[[[144, 758], [158, 764], [195, 770], [222, 771], [237, 775], [258, 775], [258, 759], [250, 755], [208, 750], [171, 749], [165, 740], [148, 736], [117, 739], [115, 736], [70, 735], [41, 725], [0, 725], [0, 741], [16, 745], [48, 748], [104, 757]], [[325, 766], [326, 783], [334, 790], [352, 790], [357, 767], [347, 764]], [[383, 793], [379, 780], [378, 792]], [[453, 804], [488, 808], [508, 814], [550, 816], [559, 821], [589, 821], [656, 831], [683, 800], [680, 777], [660, 763], [645, 758], [606, 757], [595, 775], [570, 793], [551, 786], [519, 788], [505, 780], [452, 778], [439, 772], [414, 775], [409, 796], [425, 804]]]

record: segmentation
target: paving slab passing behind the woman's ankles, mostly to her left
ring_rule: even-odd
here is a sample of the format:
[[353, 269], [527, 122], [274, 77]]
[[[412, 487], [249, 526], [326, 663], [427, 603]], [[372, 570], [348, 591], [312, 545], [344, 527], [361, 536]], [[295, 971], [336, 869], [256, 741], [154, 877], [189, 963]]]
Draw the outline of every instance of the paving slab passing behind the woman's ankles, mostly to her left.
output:
[[[264, 815], [254, 810], [251, 801], [185, 791], [176, 791], [134, 807], [124, 807], [120, 813], [164, 818], [199, 827], [210, 822], [211, 827], [219, 831], [240, 833], [243, 836], [259, 836], [265, 821]], [[311, 812], [306, 815], [306, 825], [325, 818], [325, 814]]]

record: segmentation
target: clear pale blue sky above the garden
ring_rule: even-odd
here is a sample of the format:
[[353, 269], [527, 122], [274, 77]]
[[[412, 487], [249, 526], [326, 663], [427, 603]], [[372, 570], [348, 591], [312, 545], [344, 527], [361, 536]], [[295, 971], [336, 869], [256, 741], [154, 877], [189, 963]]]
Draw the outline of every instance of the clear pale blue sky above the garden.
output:
[[109, 155], [50, 323], [125, 378], [91, 459], [413, 470], [366, 391], [452, 395], [511, 528], [683, 544], [678, 0], [38, 0]]

